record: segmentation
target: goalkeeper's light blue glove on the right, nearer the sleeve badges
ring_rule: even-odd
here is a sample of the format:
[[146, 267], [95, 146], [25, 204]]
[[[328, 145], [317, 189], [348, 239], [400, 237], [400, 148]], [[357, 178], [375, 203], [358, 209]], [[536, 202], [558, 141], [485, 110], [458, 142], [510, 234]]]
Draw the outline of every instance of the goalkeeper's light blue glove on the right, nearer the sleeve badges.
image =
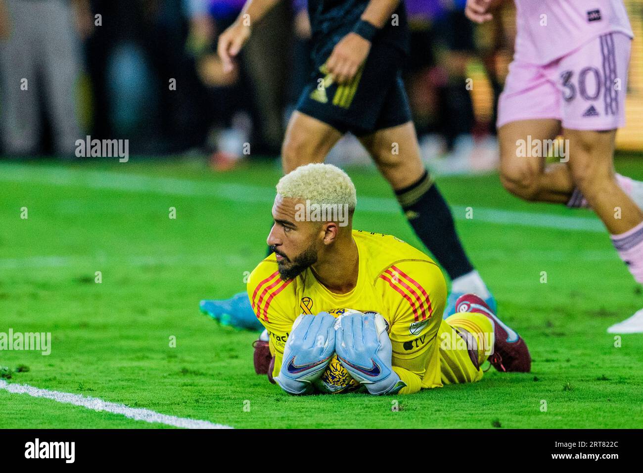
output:
[[[393, 371], [391, 340], [381, 315], [343, 315], [335, 335], [341, 366], [371, 394], [397, 394], [406, 384]], [[378, 333], [379, 332], [379, 333]]]

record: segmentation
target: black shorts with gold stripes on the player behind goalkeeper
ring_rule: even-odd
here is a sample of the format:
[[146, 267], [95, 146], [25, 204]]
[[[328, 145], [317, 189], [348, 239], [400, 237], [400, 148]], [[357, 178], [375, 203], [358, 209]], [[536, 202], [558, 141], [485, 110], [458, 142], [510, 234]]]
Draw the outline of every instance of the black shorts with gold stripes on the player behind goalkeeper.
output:
[[297, 110], [356, 136], [409, 122], [402, 57], [392, 46], [373, 46], [363, 68], [342, 85], [332, 82], [319, 66], [303, 88]]

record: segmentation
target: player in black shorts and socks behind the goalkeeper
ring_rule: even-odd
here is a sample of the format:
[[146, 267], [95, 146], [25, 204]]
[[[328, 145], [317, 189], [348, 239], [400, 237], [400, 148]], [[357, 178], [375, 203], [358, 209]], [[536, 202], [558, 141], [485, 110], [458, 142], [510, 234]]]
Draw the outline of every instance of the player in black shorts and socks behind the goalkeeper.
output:
[[[237, 21], [219, 37], [224, 67], [236, 67], [235, 57], [251, 28], [278, 1], [246, 2]], [[284, 172], [323, 162], [345, 133], [355, 134], [395, 191], [419, 239], [449, 274], [448, 310], [464, 293], [480, 295], [495, 310], [496, 302], [467, 258], [451, 211], [421, 160], [401, 77], [408, 53], [404, 4], [309, 0], [308, 12], [315, 72], [287, 126]], [[232, 308], [226, 301], [203, 301], [201, 309], [213, 316], [226, 310], [251, 314], [242, 295], [234, 301]]]

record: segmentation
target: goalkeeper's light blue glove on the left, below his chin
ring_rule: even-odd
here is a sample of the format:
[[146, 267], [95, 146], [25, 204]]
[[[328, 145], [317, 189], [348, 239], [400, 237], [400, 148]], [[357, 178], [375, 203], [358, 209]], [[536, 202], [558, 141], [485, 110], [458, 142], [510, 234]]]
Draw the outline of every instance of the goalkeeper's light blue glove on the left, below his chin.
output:
[[312, 382], [331, 362], [335, 353], [335, 317], [327, 312], [302, 314], [294, 320], [279, 376], [275, 381], [290, 394], [313, 391]]

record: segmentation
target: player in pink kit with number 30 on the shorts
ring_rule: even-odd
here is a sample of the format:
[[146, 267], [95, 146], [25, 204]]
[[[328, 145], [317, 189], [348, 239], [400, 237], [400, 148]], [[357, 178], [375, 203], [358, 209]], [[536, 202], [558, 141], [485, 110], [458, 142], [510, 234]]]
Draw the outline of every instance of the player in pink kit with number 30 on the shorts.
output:
[[[515, 55], [498, 104], [500, 180], [525, 200], [591, 207], [643, 283], [643, 183], [613, 167], [633, 37], [622, 0], [515, 2]], [[468, 0], [466, 14], [484, 23], [494, 3]], [[543, 153], [517, 152], [559, 134], [568, 160], [546, 165]], [[643, 333], [643, 310], [608, 331]]]

